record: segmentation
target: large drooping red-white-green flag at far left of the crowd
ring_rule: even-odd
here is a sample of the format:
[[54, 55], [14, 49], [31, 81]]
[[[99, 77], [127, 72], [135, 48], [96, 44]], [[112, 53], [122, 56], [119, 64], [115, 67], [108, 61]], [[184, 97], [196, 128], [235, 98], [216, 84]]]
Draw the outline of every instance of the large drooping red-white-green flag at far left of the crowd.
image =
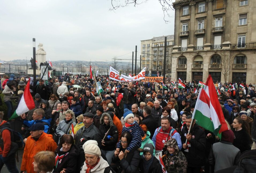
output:
[[[30, 78], [28, 79], [28, 84], [30, 82]], [[35, 102], [30, 94], [29, 86], [25, 88], [24, 94], [21, 97], [20, 103], [16, 109], [16, 111], [12, 114], [9, 120], [15, 119], [18, 116], [28, 112], [29, 110], [35, 108]]]

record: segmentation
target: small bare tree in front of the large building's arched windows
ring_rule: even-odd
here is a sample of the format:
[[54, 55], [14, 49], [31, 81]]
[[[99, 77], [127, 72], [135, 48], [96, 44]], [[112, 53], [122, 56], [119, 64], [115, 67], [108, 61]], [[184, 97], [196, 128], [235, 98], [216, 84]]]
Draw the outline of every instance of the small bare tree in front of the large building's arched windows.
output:
[[224, 75], [224, 80], [227, 82], [227, 77], [231, 73], [232, 58], [230, 57], [230, 51], [224, 51], [220, 53], [221, 56], [221, 73]]

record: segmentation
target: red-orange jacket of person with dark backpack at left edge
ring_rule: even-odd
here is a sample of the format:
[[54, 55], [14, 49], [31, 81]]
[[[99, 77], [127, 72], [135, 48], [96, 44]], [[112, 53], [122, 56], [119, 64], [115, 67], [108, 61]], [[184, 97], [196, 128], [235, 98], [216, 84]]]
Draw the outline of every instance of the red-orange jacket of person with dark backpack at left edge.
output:
[[[2, 128], [2, 125], [7, 125], [7, 121], [3, 120], [2, 123], [0, 124], [0, 128]], [[0, 147], [0, 154], [2, 154], [3, 157], [6, 157], [10, 151], [11, 148], [11, 132], [7, 129], [2, 131], [1, 134], [3, 138], [3, 150]]]

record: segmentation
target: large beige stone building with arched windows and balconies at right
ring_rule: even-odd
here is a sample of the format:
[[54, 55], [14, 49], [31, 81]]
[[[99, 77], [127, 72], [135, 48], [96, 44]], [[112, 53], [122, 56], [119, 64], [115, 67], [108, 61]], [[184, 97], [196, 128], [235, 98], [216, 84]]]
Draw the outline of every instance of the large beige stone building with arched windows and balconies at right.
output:
[[172, 78], [256, 81], [256, 1], [176, 0]]

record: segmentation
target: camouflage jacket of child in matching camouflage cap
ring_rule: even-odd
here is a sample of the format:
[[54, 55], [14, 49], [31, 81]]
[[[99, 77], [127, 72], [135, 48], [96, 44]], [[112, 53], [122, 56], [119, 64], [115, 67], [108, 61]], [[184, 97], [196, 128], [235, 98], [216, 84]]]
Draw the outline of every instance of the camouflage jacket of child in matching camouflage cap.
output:
[[187, 159], [183, 152], [178, 151], [177, 154], [167, 154], [163, 157], [164, 166], [168, 173], [186, 173]]

